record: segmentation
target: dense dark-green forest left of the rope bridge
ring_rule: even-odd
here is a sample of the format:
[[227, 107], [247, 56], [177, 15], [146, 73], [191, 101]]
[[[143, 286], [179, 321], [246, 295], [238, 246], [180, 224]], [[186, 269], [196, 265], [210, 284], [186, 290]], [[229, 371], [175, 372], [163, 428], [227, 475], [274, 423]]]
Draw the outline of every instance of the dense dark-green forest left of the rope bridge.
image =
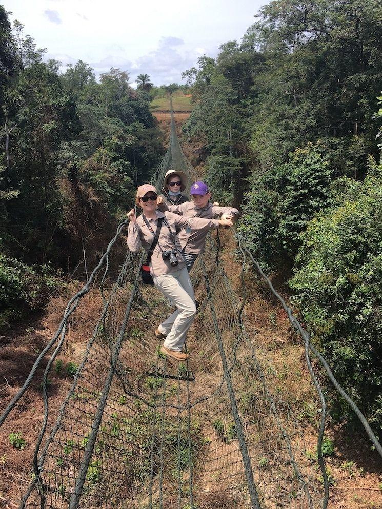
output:
[[[0, 6], [0, 325], [85, 277], [163, 155], [150, 94], [59, 62]], [[87, 262], [87, 267], [85, 267]]]

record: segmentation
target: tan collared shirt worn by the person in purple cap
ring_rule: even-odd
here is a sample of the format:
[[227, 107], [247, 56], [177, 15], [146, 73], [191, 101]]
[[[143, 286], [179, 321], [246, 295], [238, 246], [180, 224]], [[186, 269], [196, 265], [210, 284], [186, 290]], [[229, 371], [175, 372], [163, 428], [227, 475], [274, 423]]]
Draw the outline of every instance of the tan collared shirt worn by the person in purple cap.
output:
[[[239, 211], [233, 207], [219, 207], [207, 203], [203, 209], [198, 209], [193, 201], [187, 201], [181, 205], [169, 205], [167, 202], [163, 202], [159, 205], [160, 210], [170, 211], [175, 214], [182, 214], [187, 217], [200, 217], [206, 219], [218, 219], [222, 214], [231, 214], [234, 217], [239, 215]], [[192, 228], [185, 228], [181, 230], [177, 237], [177, 247], [180, 251], [185, 251], [189, 254], [201, 254], [204, 253], [206, 246], [206, 237], [208, 231], [206, 230], [195, 230]]]

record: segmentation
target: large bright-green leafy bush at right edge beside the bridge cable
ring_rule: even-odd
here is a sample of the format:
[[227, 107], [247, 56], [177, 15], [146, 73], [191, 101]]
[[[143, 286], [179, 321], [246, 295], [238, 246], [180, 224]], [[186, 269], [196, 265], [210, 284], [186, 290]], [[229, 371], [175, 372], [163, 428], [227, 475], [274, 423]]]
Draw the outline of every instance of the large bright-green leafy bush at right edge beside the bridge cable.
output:
[[[382, 429], [382, 167], [314, 218], [290, 286], [314, 340], [369, 422]], [[333, 394], [338, 419], [354, 416]]]

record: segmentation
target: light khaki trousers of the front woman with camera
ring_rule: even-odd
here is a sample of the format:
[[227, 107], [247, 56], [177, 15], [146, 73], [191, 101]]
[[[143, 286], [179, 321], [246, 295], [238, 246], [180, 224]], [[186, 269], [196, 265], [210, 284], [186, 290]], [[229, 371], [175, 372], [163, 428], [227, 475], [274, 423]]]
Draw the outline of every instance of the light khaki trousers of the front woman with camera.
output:
[[169, 274], [153, 276], [155, 286], [178, 308], [158, 330], [167, 334], [164, 346], [182, 352], [191, 323], [196, 315], [195, 295], [187, 268]]

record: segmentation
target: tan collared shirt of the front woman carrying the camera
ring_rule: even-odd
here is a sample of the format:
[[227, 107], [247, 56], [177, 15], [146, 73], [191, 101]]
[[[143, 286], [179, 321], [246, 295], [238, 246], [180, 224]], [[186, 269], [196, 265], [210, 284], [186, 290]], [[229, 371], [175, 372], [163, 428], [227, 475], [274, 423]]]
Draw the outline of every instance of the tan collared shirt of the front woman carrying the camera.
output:
[[[149, 225], [153, 229], [154, 233], [156, 233], [156, 227], [158, 225], [159, 217], [165, 217], [166, 221], [170, 227], [173, 237], [176, 235], [176, 231], [181, 228], [192, 228], [197, 231], [205, 231], [207, 232], [211, 229], [219, 228], [219, 221], [216, 219], [202, 219], [198, 217], [184, 217], [179, 216], [178, 214], [173, 214], [172, 212], [160, 212], [156, 210], [155, 219], [146, 218], [149, 222]], [[154, 235], [147, 227], [143, 216], [140, 215], [137, 217], [136, 223], [132, 221], [129, 222], [128, 235], [127, 235], [127, 245], [133, 253], [136, 253], [140, 250], [141, 246], [148, 251], [153, 243]], [[168, 258], [165, 260], [162, 258], [163, 251], [169, 251], [174, 249], [174, 241], [170, 234], [169, 229], [162, 223], [162, 229], [160, 230], [158, 243], [154, 248], [154, 252], [151, 257], [150, 262], [150, 273], [152, 276], [160, 276], [162, 274], [167, 274], [169, 272], [175, 272], [179, 269], [183, 269], [186, 266], [183, 257], [180, 253], [177, 255], [178, 264], [175, 267], [172, 267]]]

